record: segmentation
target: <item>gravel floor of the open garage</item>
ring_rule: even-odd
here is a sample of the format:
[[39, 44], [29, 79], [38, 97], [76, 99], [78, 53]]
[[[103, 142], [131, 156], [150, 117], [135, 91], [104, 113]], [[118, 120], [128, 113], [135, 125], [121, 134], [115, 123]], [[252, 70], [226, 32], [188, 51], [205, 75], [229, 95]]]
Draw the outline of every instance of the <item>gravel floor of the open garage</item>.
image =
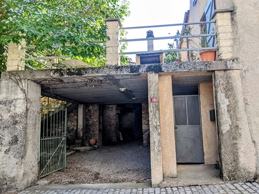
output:
[[77, 151], [67, 156], [66, 168], [41, 181], [48, 184], [151, 182], [150, 152], [142, 141]]

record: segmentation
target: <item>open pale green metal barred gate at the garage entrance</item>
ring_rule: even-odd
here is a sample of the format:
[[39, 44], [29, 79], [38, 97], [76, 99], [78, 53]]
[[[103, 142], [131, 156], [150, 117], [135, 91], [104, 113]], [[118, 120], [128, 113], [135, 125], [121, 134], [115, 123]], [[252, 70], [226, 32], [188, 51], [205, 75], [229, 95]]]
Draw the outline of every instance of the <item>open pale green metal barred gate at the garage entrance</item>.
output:
[[40, 177], [66, 167], [66, 109], [41, 106], [39, 134]]

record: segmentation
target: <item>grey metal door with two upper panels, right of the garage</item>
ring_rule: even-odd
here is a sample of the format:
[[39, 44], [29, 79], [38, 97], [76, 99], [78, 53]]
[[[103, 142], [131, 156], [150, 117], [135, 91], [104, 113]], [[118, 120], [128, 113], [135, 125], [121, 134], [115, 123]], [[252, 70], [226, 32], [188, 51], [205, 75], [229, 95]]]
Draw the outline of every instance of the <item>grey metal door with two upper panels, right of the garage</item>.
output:
[[204, 163], [199, 95], [174, 96], [178, 163]]

